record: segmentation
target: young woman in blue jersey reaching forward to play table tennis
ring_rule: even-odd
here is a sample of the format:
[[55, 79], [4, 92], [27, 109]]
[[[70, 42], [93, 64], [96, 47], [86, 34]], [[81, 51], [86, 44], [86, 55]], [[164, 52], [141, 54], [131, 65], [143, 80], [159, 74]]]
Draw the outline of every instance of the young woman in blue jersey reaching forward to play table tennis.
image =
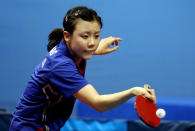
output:
[[13, 113], [10, 131], [60, 130], [70, 117], [76, 98], [99, 112], [113, 109], [136, 95], [156, 103], [152, 89], [133, 87], [99, 95], [84, 78], [86, 60], [118, 49], [120, 38], [100, 41], [101, 27], [101, 18], [92, 9], [75, 7], [67, 12], [63, 29], [55, 29], [49, 35], [49, 52], [31, 75]]

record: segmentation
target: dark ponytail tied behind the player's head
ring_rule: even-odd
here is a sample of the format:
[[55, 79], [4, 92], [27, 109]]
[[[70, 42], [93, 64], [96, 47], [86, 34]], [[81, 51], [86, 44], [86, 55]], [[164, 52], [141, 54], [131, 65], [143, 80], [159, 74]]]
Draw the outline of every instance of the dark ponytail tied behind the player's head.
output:
[[56, 28], [48, 36], [49, 43], [47, 44], [47, 51], [50, 51], [53, 47], [60, 43], [64, 37], [63, 29]]

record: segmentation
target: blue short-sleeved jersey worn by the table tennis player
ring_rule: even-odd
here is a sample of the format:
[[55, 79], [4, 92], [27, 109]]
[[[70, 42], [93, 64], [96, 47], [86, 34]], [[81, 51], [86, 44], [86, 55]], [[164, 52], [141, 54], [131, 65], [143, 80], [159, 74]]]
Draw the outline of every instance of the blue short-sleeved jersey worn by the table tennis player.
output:
[[63, 41], [55, 46], [31, 75], [10, 130], [59, 130], [72, 113], [73, 94], [88, 84], [85, 65], [76, 66]]

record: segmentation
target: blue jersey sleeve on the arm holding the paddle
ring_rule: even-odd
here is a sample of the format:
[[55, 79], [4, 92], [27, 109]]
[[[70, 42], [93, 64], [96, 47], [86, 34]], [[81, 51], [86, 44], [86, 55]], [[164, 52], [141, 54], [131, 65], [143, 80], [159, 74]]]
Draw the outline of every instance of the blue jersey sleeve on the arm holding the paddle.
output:
[[64, 62], [56, 65], [49, 76], [49, 80], [65, 98], [72, 96], [88, 81], [82, 76], [73, 62]]

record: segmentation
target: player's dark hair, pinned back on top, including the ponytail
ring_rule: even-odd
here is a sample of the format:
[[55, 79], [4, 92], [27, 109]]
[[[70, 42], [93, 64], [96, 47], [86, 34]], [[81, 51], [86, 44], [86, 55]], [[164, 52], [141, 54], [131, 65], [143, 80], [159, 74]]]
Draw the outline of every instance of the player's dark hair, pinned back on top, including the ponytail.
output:
[[[89, 9], [85, 6], [78, 6], [70, 9], [63, 20], [63, 28], [70, 35], [72, 35], [74, 31], [78, 19], [97, 21], [100, 24], [100, 28], [102, 28], [101, 17], [99, 17], [93, 9]], [[53, 47], [59, 44], [63, 37], [64, 34], [62, 28], [54, 29], [48, 36], [49, 43], [47, 45], [47, 50], [50, 51]]]

